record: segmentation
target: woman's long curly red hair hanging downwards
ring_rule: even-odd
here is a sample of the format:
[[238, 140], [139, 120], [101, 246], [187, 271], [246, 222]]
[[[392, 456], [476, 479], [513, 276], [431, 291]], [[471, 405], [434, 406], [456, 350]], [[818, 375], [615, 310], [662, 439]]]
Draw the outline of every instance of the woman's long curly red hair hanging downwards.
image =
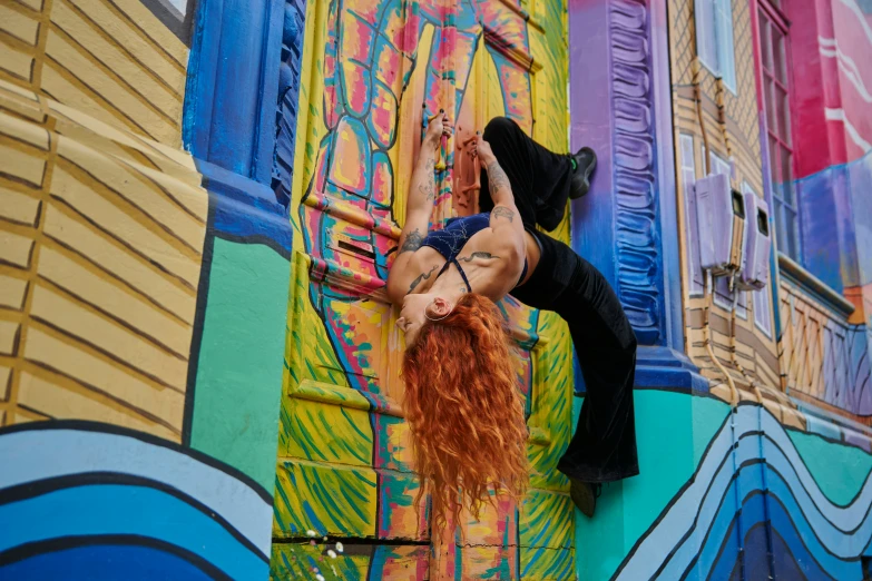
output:
[[490, 490], [516, 500], [527, 489], [527, 425], [497, 305], [463, 295], [445, 318], [428, 321], [403, 358], [405, 415], [421, 474], [417, 502], [432, 498], [433, 534], [448, 511], [479, 518]]

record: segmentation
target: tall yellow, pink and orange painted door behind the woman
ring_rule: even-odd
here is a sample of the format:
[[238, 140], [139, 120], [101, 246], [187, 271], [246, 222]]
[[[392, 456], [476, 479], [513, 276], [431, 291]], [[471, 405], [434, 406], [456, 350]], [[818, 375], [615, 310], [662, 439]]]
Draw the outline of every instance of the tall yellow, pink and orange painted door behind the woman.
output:
[[[491, 117], [511, 117], [566, 149], [565, 14], [560, 0], [308, 3], [275, 578], [574, 577], [574, 511], [555, 470], [571, 431], [566, 325], [501, 303], [527, 397], [531, 490], [520, 508], [500, 499], [481, 522], [459, 523], [463, 534], [431, 539], [427, 505], [414, 503], [400, 405], [402, 336], [383, 292], [424, 112], [445, 109], [458, 120], [437, 176], [437, 226], [476, 210], [472, 166], [459, 148]], [[557, 234], [567, 233], [565, 223]]]

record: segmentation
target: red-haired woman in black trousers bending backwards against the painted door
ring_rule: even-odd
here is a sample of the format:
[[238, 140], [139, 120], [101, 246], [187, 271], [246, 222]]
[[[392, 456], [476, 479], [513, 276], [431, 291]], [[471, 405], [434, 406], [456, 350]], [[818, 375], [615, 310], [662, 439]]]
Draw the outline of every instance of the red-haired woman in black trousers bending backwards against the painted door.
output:
[[589, 148], [553, 154], [515, 121], [492, 119], [472, 149], [482, 167], [479, 205], [486, 213], [428, 233], [435, 150], [451, 130], [444, 115], [428, 127], [388, 277], [405, 333], [405, 410], [421, 494], [431, 493], [440, 528], [449, 509], [454, 522], [461, 506], [478, 516], [490, 489], [516, 498], [525, 491], [523, 406], [493, 304], [511, 294], [569, 325], [587, 393], [557, 469], [570, 479], [572, 501], [592, 516], [600, 483], [639, 472], [636, 337], [604, 276], [536, 225], [557, 227], [567, 198], [587, 193], [596, 157]]

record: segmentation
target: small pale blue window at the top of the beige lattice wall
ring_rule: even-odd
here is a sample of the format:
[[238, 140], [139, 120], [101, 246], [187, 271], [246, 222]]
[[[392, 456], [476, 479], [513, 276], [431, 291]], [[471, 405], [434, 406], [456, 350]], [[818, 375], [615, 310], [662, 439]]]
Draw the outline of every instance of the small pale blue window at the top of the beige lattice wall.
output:
[[732, 0], [696, 0], [696, 48], [703, 65], [736, 92]]

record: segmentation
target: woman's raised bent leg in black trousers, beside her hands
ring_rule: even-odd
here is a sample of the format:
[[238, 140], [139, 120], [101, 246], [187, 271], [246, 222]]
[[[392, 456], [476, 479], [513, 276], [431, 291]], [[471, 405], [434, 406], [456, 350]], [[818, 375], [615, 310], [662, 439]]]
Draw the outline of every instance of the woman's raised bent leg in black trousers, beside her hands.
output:
[[[572, 163], [567, 155], [555, 154], [533, 141], [513, 120], [494, 117], [484, 127], [484, 140], [490, 144], [500, 167], [509, 176], [515, 205], [525, 226], [541, 225], [555, 229], [566, 211], [572, 180]], [[493, 209], [488, 190], [488, 173], [482, 168], [481, 211]]]

